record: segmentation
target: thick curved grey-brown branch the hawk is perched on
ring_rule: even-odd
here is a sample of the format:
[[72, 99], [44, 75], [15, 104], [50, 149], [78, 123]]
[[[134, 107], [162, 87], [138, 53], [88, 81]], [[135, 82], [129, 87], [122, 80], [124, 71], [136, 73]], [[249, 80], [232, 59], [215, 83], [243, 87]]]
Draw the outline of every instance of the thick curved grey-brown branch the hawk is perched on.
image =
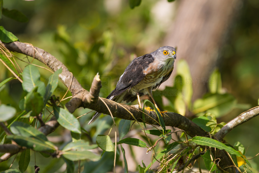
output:
[[[46, 64], [53, 71], [56, 71], [59, 68], [62, 68], [62, 73], [59, 74], [59, 77], [63, 81], [64, 85], [66, 85], [69, 88], [70, 82], [71, 82], [71, 73], [68, 71], [67, 67], [64, 66], [64, 64], [62, 64], [50, 53], [44, 51], [43, 49], [35, 47], [31, 44], [21, 43], [19, 41], [15, 41], [12, 43], [3, 43], [3, 44], [9, 51], [18, 52], [18, 53], [25, 54], [27, 56], [31, 56], [41, 61], [42, 63]], [[96, 110], [99, 113], [110, 114], [109, 110], [106, 107], [107, 105], [111, 110], [113, 117], [118, 117], [126, 120], [134, 120], [132, 115], [128, 112], [130, 111], [139, 122], [142, 122], [142, 109], [139, 108], [139, 105], [128, 106], [125, 104], [116, 103], [111, 100], [103, 99], [104, 102], [106, 103], [105, 105], [104, 102], [102, 102], [102, 100], [100, 100], [98, 97], [100, 88], [101, 88], [101, 81], [99, 79], [98, 74], [96, 75], [96, 77], [92, 82], [90, 92], [86, 91], [73, 76], [72, 84], [70, 87], [70, 91], [73, 95], [73, 98], [68, 103], [66, 103], [66, 107], [69, 110], [69, 112], [73, 113], [77, 108], [84, 107], [84, 108]], [[125, 108], [128, 111], [125, 110]], [[148, 113], [147, 110], [145, 110], [145, 113], [148, 114], [148, 115], [145, 115], [146, 123], [158, 125], [158, 117], [156, 113], [152, 111]], [[166, 113], [166, 114], [163, 114], [163, 119], [166, 126], [173, 126], [173, 127], [180, 128], [184, 130], [191, 137], [194, 137], [197, 135], [208, 136], [208, 134], [202, 128], [200, 128], [195, 123], [193, 123], [192, 121], [190, 121], [189, 119], [187, 119], [186, 117], [180, 114]], [[39, 128], [39, 131], [41, 131], [45, 135], [48, 135], [51, 132], [53, 132], [58, 126], [59, 124], [56, 121], [55, 117], [52, 117], [51, 120], [45, 123], [44, 126]], [[229, 161], [228, 156], [224, 153], [224, 151], [217, 150], [217, 157], [218, 158], [220, 157], [221, 159], [222, 168], [229, 167], [232, 165], [231, 162], [230, 163], [228, 162]]]

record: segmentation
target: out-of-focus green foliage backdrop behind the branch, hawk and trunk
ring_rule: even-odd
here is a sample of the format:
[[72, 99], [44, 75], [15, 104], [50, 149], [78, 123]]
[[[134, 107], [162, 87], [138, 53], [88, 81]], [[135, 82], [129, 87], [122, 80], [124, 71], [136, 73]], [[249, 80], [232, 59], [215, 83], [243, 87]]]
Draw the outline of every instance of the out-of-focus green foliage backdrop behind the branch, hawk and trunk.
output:
[[[178, 2], [174, 3], [177, 6]], [[116, 86], [125, 67], [135, 58], [133, 53], [137, 56], [147, 53], [147, 47], [162, 43], [166, 32], [159, 23], [164, 21], [154, 18], [152, 9], [155, 0], [143, 0], [134, 9], [130, 8], [128, 1], [120, 0], [4, 0], [3, 4], [4, 8], [17, 9], [29, 19], [21, 23], [3, 16], [0, 24], [6, 30], [15, 34], [20, 41], [54, 55], [87, 90], [94, 75], [99, 72], [103, 85], [102, 97], [106, 97]], [[258, 105], [259, 98], [259, 1], [243, 1], [240, 8], [221, 46], [218, 67], [223, 88], [233, 94], [238, 103], [254, 107]], [[42, 65], [37, 61], [33, 63]], [[21, 67], [24, 65], [21, 63]], [[51, 74], [39, 70], [42, 79]], [[0, 81], [10, 76], [11, 73], [0, 64]], [[57, 94], [63, 95], [67, 88], [60, 86]], [[21, 84], [17, 81], [9, 82], [8, 87], [0, 92], [1, 103], [16, 105], [17, 109], [22, 96]], [[234, 109], [219, 121], [228, 122], [243, 110]], [[79, 109], [75, 116], [88, 111]], [[92, 114], [85, 115], [81, 121], [86, 122]], [[247, 147], [247, 155], [255, 156], [259, 152], [258, 123], [259, 117], [255, 117], [234, 129], [225, 140], [231, 144], [240, 141]], [[58, 133], [62, 131], [51, 135]], [[258, 166], [259, 158], [253, 161]]]

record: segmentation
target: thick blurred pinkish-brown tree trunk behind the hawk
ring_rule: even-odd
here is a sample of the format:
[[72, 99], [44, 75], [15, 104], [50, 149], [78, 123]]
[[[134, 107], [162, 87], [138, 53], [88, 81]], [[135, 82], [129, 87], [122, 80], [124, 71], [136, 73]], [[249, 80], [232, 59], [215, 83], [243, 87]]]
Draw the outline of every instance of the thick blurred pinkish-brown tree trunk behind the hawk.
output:
[[[231, 32], [231, 24], [241, 5], [240, 0], [179, 1], [176, 18], [169, 27], [164, 45], [177, 46], [176, 63], [181, 58], [188, 62], [193, 100], [206, 92], [211, 72], [221, 63], [219, 50], [227, 33]], [[174, 73], [176, 69], [177, 64]]]

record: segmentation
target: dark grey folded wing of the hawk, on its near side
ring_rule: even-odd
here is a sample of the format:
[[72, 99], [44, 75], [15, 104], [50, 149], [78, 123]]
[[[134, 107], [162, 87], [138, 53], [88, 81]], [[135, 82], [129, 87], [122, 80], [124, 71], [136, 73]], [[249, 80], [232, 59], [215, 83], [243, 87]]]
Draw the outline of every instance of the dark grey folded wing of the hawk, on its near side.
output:
[[121, 75], [116, 88], [109, 96], [120, 95], [127, 89], [131, 89], [133, 86], [137, 85], [146, 76], [146, 74], [143, 74], [143, 69], [148, 67], [153, 61], [154, 57], [151, 54], [145, 54], [133, 59], [125, 69], [123, 75]]

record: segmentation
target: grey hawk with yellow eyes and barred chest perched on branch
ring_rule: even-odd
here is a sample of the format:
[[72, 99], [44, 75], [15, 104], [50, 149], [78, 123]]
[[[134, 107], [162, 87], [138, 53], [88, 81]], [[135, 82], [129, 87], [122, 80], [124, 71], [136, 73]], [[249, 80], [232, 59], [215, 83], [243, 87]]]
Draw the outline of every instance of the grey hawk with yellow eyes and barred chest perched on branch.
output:
[[[116, 88], [106, 99], [118, 103], [121, 101], [128, 103], [138, 99], [141, 107], [139, 97], [149, 94], [155, 107], [159, 110], [153, 98], [152, 90], [158, 88], [170, 77], [174, 69], [175, 59], [176, 50], [170, 46], [160, 47], [152, 53], [133, 59], [120, 76]], [[96, 112], [88, 124], [91, 124], [100, 115], [101, 113]]]

